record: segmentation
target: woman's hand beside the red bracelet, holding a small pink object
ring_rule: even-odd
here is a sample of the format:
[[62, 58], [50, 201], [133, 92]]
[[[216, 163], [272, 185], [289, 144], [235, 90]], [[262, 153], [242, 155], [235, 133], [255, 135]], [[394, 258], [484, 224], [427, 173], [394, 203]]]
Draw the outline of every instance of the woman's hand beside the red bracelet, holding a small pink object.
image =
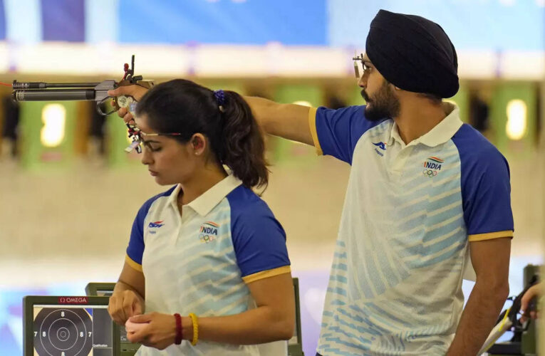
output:
[[147, 313], [129, 319], [131, 323], [147, 323], [135, 333], [127, 333], [130, 342], [163, 350], [175, 342], [176, 319], [174, 315]]

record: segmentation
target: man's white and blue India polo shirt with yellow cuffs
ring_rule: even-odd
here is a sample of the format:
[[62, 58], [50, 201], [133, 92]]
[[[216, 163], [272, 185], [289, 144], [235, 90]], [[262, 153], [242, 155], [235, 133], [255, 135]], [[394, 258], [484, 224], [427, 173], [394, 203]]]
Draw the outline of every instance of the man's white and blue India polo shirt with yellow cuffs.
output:
[[364, 111], [309, 114], [318, 154], [352, 166], [318, 352], [445, 355], [469, 241], [513, 236], [509, 167], [453, 105], [408, 145]]

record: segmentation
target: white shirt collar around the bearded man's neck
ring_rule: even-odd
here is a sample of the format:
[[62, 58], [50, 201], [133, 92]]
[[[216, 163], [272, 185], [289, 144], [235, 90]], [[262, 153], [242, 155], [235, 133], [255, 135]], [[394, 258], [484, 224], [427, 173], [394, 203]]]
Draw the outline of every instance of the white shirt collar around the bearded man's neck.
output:
[[[425, 135], [422, 135], [416, 140], [410, 142], [410, 145], [422, 143], [426, 146], [435, 147], [450, 140], [452, 136], [454, 136], [455, 133], [460, 130], [463, 122], [460, 120], [460, 109], [457, 107], [457, 105], [445, 102], [443, 103], [443, 109], [447, 113], [447, 117], [435, 125], [432, 130], [426, 132]], [[392, 130], [390, 131], [388, 145], [393, 145], [394, 141], [398, 141], [402, 145], [405, 145], [403, 140], [401, 140], [398, 125], [395, 123], [395, 121], [392, 125]]]

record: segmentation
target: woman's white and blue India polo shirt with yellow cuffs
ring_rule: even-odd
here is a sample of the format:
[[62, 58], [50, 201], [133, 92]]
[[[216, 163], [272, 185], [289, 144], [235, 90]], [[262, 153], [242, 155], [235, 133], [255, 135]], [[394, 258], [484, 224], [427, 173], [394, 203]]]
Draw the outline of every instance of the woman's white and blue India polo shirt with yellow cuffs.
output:
[[[145, 276], [145, 312], [198, 317], [254, 308], [247, 283], [290, 272], [286, 234], [266, 203], [229, 175], [177, 206], [180, 185], [152, 197], [133, 224], [126, 261]], [[286, 352], [286, 342], [280, 350]], [[278, 342], [227, 345], [186, 340], [138, 355], [282, 355]]]

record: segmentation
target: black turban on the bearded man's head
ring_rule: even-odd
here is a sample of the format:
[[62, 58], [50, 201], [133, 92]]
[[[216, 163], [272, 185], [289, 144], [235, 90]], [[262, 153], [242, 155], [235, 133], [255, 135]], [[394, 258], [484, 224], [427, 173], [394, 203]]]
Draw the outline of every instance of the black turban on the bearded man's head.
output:
[[378, 11], [365, 51], [380, 74], [403, 90], [450, 98], [460, 88], [452, 42], [423, 17]]

